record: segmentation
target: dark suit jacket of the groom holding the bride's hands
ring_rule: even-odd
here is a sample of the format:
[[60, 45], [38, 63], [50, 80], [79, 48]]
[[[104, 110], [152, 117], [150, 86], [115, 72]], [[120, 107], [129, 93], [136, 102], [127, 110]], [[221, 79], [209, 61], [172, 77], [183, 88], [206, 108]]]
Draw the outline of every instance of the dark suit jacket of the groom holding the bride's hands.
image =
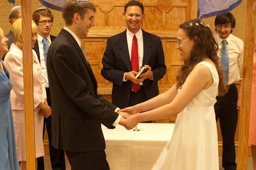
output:
[[78, 43], [62, 29], [47, 54], [52, 145], [67, 151], [105, 149], [100, 123], [110, 127], [116, 106], [97, 94], [97, 82]]

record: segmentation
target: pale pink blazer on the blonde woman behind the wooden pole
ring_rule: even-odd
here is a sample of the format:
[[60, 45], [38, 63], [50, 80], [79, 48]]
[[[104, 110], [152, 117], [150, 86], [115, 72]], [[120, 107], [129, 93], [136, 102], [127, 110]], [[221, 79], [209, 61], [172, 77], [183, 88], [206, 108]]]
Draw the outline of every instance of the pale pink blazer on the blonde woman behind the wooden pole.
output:
[[[37, 53], [33, 52], [33, 89], [34, 109], [40, 102], [46, 99], [45, 84], [41, 74], [41, 66]], [[22, 51], [15, 44], [11, 44], [9, 52], [4, 58], [4, 63], [10, 72], [10, 79], [13, 82], [13, 89], [10, 92], [12, 110], [24, 110], [24, 88], [23, 88], [23, 59]]]

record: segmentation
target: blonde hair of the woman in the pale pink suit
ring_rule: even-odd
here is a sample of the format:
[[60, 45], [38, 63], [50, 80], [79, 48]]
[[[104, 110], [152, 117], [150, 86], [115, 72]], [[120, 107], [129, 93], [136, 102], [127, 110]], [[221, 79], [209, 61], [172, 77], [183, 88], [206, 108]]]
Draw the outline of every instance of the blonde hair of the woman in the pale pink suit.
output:
[[[37, 25], [32, 20], [31, 21], [31, 27], [32, 30], [37, 30]], [[11, 26], [11, 29], [13, 30], [14, 39], [16, 41], [22, 42], [22, 22], [21, 19], [17, 19], [14, 21], [13, 25]]]

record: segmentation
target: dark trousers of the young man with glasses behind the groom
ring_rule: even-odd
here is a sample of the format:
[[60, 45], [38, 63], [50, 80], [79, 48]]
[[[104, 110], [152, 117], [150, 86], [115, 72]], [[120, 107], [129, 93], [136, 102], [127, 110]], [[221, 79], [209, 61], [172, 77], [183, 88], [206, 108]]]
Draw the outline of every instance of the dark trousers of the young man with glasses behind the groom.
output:
[[[51, 96], [50, 96], [49, 88], [46, 88], [46, 94], [47, 94], [48, 105], [51, 106]], [[45, 131], [45, 125], [46, 125], [46, 130], [47, 130], [48, 139], [49, 139], [51, 167], [53, 170], [65, 170], [66, 165], [65, 165], [64, 151], [53, 148], [51, 145], [51, 116], [49, 118], [44, 118], [44, 131]], [[43, 137], [44, 137], [44, 131], [43, 131]], [[38, 163], [37, 169], [43, 170], [44, 169], [44, 157], [38, 157], [37, 163]]]

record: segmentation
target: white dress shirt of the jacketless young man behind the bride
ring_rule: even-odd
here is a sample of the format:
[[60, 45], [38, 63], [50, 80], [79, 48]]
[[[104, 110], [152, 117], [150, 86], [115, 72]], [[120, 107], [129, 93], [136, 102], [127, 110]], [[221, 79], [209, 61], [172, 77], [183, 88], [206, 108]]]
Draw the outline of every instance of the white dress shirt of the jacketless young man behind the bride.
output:
[[[218, 34], [214, 35], [216, 43], [218, 44], [218, 56], [221, 60], [222, 41]], [[233, 34], [229, 34], [227, 40], [227, 50], [229, 54], [229, 81], [228, 84], [233, 84], [241, 80], [240, 72], [243, 65], [243, 41], [240, 38], [235, 37]]]

